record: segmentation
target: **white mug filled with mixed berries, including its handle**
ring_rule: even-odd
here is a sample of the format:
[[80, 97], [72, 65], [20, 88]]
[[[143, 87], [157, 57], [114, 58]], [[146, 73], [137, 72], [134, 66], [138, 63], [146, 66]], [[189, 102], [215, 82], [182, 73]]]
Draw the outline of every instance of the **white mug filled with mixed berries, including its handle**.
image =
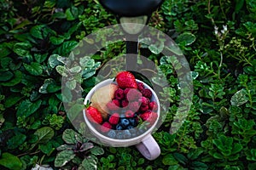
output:
[[160, 118], [160, 102], [147, 83], [130, 71], [96, 84], [84, 99], [84, 121], [102, 144], [136, 145], [148, 160], [160, 155], [151, 133]]

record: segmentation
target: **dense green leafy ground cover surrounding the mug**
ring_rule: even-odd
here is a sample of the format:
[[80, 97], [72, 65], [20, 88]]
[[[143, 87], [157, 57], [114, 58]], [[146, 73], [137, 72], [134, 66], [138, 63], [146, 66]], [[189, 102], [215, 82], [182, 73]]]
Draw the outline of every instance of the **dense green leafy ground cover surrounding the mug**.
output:
[[[0, 168], [256, 169], [256, 2], [166, 0], [149, 22], [177, 42], [189, 61], [193, 105], [177, 133], [179, 84], [173, 58], [141, 46], [170, 88], [165, 122], [153, 134], [161, 155], [105, 147], [73, 128], [61, 97], [62, 63], [78, 42], [116, 24], [96, 0], [0, 0]], [[83, 96], [118, 42], [86, 58]]]

